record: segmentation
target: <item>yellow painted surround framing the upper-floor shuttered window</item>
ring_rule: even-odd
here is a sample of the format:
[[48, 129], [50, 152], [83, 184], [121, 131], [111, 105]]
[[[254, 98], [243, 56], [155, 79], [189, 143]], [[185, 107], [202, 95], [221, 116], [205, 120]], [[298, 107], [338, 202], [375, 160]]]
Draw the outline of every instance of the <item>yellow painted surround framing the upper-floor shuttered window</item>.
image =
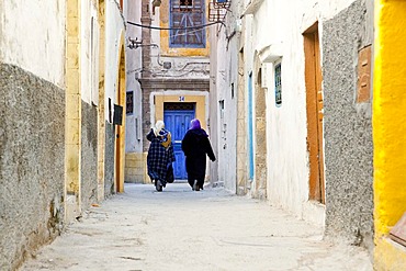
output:
[[[205, 1], [206, 18], [208, 16], [208, 0]], [[160, 14], [160, 27], [169, 27], [169, 4], [170, 0], [162, 1], [159, 8]], [[208, 22], [206, 22], [208, 23]], [[206, 47], [205, 48], [170, 48], [169, 47], [169, 35], [170, 31], [160, 31], [160, 47], [162, 56], [204, 56], [208, 57], [210, 44], [208, 44], [208, 30], [206, 27]]]

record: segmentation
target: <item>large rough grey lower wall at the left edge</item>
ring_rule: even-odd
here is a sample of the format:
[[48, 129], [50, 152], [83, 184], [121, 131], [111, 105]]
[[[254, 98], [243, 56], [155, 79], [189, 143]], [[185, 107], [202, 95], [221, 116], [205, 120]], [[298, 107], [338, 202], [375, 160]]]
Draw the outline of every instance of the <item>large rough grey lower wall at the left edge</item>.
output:
[[0, 64], [0, 269], [52, 240], [64, 219], [65, 92]]

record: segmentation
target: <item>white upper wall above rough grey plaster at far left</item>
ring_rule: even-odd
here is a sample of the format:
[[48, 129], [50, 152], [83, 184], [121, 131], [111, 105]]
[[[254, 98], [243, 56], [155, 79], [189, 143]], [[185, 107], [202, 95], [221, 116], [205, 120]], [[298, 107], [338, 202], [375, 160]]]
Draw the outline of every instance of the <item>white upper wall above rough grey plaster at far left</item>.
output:
[[63, 0], [4, 0], [0, 9], [0, 60], [65, 87]]

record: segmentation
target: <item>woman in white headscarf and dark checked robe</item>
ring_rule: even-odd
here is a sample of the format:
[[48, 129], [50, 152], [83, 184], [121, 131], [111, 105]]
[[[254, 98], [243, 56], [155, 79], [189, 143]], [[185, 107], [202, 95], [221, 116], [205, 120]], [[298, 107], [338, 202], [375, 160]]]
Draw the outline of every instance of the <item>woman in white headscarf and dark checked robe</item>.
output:
[[174, 161], [171, 135], [165, 129], [165, 123], [158, 121], [147, 135], [150, 142], [147, 155], [147, 168], [150, 180], [158, 192], [167, 185], [169, 166]]

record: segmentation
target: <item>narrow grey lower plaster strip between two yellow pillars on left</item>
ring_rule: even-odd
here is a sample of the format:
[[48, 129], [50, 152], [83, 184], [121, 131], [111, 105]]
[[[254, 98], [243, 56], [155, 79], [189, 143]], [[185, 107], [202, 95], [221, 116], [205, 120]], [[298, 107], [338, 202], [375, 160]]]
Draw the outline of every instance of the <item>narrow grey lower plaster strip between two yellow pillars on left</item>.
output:
[[81, 105], [80, 195], [83, 210], [98, 201], [98, 112], [82, 101]]

